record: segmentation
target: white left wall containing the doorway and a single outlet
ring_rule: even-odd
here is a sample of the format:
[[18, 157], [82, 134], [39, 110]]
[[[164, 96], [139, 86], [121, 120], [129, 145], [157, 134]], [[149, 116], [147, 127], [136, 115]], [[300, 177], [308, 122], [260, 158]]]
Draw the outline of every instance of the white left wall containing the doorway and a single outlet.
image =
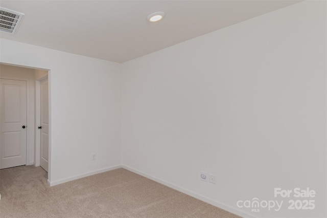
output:
[[[0, 62], [47, 69], [54, 185], [121, 164], [120, 66], [0, 39]], [[92, 154], [96, 153], [96, 161]]]

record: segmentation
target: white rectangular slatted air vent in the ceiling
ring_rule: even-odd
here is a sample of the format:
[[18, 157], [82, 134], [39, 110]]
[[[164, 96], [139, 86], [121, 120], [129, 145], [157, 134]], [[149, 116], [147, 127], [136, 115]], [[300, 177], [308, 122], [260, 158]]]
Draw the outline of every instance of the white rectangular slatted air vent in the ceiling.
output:
[[0, 31], [15, 34], [24, 14], [0, 7]]

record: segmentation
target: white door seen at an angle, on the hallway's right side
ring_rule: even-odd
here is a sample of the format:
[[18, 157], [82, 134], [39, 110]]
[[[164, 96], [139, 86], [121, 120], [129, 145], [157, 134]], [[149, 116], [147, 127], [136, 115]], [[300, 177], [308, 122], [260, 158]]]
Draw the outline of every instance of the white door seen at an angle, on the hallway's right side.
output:
[[40, 166], [48, 172], [49, 163], [49, 99], [48, 78], [40, 81]]

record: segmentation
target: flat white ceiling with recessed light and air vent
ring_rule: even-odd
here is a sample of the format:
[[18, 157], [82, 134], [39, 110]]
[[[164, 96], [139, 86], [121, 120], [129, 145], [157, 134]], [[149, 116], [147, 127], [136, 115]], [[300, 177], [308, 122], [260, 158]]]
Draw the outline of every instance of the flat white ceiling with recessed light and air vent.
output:
[[[25, 17], [0, 37], [121, 63], [298, 2], [1, 0]], [[166, 17], [149, 23], [157, 11]]]

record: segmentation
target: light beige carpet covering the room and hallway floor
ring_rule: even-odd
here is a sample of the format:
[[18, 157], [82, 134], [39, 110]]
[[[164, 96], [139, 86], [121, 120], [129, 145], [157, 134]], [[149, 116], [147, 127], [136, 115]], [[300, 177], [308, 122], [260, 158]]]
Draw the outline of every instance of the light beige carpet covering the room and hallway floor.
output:
[[49, 187], [40, 167], [0, 170], [0, 217], [239, 217], [125, 169]]

